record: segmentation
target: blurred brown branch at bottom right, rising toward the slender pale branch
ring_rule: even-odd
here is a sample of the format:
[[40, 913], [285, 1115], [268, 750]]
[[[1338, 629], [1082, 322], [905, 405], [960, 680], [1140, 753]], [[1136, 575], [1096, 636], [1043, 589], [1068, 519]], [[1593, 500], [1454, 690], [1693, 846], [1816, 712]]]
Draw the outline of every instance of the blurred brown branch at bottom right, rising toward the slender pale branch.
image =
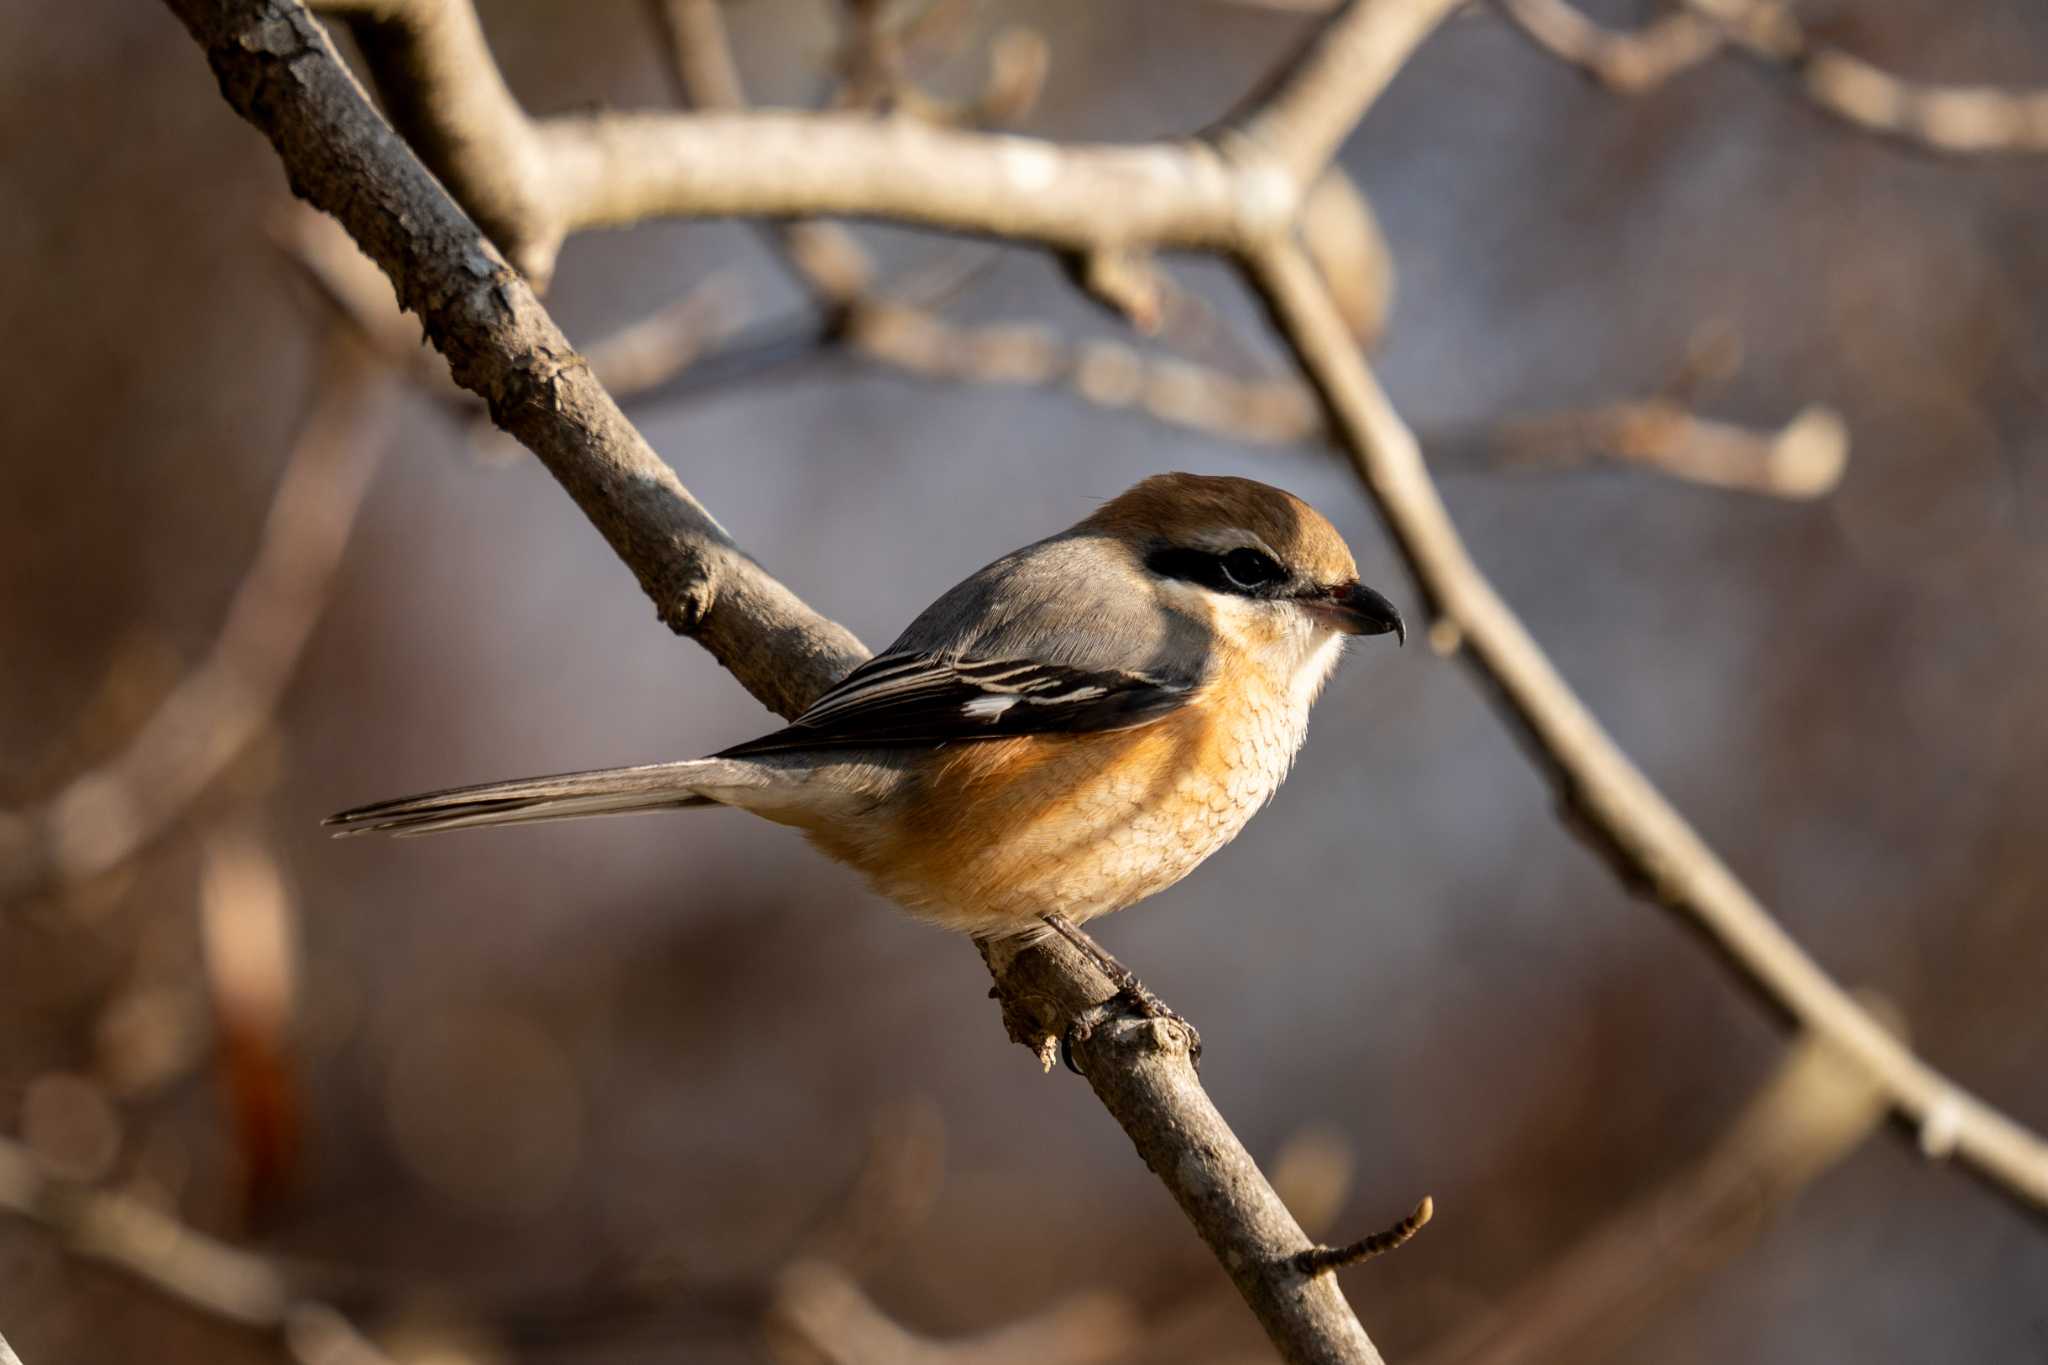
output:
[[[1896, 1021], [1882, 1001], [1872, 1009]], [[1593, 1363], [1733, 1261], [1767, 1220], [1884, 1121], [1870, 1074], [1823, 1038], [1796, 1040], [1700, 1160], [1567, 1246], [1425, 1365]]]

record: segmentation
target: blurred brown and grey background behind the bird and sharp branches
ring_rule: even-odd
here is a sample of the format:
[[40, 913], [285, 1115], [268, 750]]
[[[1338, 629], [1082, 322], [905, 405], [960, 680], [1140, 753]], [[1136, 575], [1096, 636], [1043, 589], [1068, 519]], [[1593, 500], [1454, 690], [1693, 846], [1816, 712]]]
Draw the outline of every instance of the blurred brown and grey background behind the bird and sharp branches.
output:
[[[535, 113], [676, 98], [645, 4], [479, 8]], [[1270, 1359], [1085, 1085], [1004, 1040], [971, 950], [788, 831], [324, 837], [346, 804], [772, 718], [539, 465], [334, 340], [276, 158], [166, 10], [8, 10], [0, 1195], [172, 1214], [403, 1361]], [[961, 10], [920, 80], [971, 94], [1028, 25], [1051, 61], [1022, 127], [1051, 137], [1200, 127], [1311, 23]], [[1798, 10], [1915, 78], [2048, 82], [2032, 0]], [[758, 100], [831, 90], [823, 0], [727, 20]], [[1735, 55], [1626, 98], [1481, 6], [1343, 166], [1399, 272], [1382, 379], [1481, 565], [1839, 980], [2048, 1128], [2042, 164], [1847, 129]], [[858, 231], [954, 321], [1135, 340], [1040, 254]], [[1174, 272], [1198, 325], [1167, 342], [1288, 375], [1227, 272]], [[688, 297], [737, 360], [629, 413], [870, 645], [1165, 469], [1300, 493], [1419, 614], [1313, 434], [848, 354], [743, 225], [580, 235], [549, 307], [596, 346]], [[1573, 424], [1530, 438], [1661, 393], [1761, 434], [1825, 405], [1845, 473], [1769, 497], [1602, 458]], [[1776, 1019], [1571, 839], [1427, 647], [1354, 651], [1274, 806], [1102, 937], [1200, 1023], [1204, 1083], [1313, 1232], [1436, 1197], [1343, 1273], [1395, 1359], [1481, 1359], [1470, 1334], [1505, 1324], [1499, 1359], [2048, 1361], [2040, 1220], [1853, 1085], [1788, 1085]], [[1538, 1349], [1575, 1308], [1591, 1338]], [[193, 1312], [0, 1212], [27, 1365], [309, 1359], [309, 1330]]]

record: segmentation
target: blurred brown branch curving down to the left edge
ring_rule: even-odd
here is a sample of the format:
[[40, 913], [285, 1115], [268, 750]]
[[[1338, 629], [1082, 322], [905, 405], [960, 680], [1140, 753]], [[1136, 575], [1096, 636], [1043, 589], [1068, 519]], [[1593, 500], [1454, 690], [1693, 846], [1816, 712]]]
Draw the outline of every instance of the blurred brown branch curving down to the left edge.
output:
[[262, 542], [205, 661], [98, 767], [0, 812], [0, 894], [96, 878], [162, 837], [270, 722], [334, 589], [393, 415], [383, 358], [336, 327]]

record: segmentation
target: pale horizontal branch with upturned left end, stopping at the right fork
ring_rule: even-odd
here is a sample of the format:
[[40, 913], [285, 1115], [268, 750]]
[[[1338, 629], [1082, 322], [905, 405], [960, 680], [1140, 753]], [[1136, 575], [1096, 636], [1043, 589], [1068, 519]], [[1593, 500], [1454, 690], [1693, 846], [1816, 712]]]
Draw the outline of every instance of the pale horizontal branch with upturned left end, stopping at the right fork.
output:
[[[416, 92], [393, 119], [461, 203], [487, 205], [479, 223], [541, 284], [567, 233], [651, 217], [891, 217], [1073, 250], [1219, 246], [1245, 192], [1198, 143], [1061, 147], [905, 115], [739, 113], [729, 63], [694, 57], [700, 113], [535, 121], [504, 94], [469, 0], [317, 8], [375, 25], [365, 53], [379, 88]], [[690, 45], [700, 23], [686, 14], [672, 33]]]

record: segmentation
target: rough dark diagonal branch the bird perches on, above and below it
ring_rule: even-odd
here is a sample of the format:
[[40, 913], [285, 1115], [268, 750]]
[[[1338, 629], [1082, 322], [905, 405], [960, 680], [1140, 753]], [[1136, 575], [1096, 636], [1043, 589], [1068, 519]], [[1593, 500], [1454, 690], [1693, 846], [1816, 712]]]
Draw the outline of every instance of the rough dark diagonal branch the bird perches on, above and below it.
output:
[[[170, 8], [205, 47], [229, 104], [270, 137], [293, 188], [391, 274], [455, 379], [541, 456], [666, 620], [784, 714], [864, 657], [852, 634], [741, 555], [655, 458], [526, 282], [377, 117], [297, 0]], [[989, 945], [987, 958], [1012, 1036], [1034, 1048], [1114, 995], [1059, 943]], [[1309, 1236], [1208, 1101], [1180, 1031], [1110, 1019], [1077, 1058], [1282, 1355], [1376, 1363], [1335, 1281], [1290, 1265]]]

